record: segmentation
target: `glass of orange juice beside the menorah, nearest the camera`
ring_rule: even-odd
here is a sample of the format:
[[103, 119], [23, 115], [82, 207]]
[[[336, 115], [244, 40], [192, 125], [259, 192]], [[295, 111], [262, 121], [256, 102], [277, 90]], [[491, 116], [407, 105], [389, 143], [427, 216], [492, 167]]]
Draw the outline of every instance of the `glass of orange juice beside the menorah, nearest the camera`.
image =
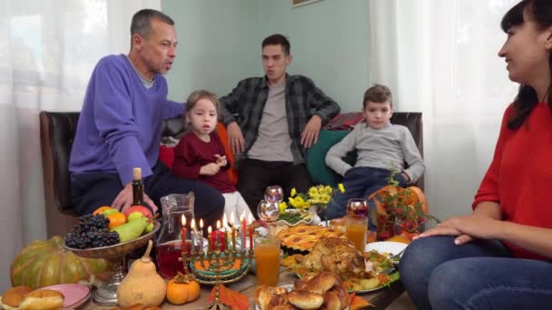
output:
[[275, 236], [256, 237], [255, 273], [257, 284], [278, 286], [280, 275], [280, 239]]

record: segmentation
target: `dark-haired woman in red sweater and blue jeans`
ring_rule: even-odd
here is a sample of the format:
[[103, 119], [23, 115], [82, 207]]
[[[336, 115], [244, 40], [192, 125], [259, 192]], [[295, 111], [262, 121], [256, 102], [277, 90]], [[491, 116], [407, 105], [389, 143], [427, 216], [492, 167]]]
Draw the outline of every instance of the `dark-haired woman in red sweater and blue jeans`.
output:
[[508, 39], [498, 55], [519, 92], [473, 214], [429, 229], [400, 260], [420, 309], [552, 305], [552, 1], [521, 1], [501, 26]]

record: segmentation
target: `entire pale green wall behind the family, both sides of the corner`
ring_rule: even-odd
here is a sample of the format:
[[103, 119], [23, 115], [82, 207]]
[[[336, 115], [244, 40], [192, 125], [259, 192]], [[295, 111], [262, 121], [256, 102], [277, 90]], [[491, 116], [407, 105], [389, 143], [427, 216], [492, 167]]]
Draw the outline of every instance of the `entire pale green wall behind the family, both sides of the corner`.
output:
[[320, 0], [292, 9], [290, 0], [163, 0], [162, 9], [180, 41], [167, 74], [173, 100], [196, 88], [226, 94], [239, 80], [262, 75], [261, 41], [281, 33], [291, 41], [289, 73], [309, 76], [342, 111], [360, 111], [369, 85], [368, 1]]

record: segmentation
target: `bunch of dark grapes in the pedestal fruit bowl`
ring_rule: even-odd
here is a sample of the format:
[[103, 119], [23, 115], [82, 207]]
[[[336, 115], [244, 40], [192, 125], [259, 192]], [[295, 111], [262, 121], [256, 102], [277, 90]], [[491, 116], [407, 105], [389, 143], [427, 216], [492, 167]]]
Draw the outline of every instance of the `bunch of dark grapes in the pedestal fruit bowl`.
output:
[[79, 218], [70, 233], [65, 235], [65, 245], [74, 248], [107, 247], [119, 243], [119, 234], [109, 231], [109, 218], [103, 214], [86, 214]]

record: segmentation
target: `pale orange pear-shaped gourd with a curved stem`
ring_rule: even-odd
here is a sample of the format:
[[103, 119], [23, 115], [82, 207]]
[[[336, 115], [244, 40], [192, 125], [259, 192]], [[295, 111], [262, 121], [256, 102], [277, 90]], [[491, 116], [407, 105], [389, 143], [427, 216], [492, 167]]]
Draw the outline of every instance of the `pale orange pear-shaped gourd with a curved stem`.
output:
[[128, 274], [117, 288], [119, 305], [158, 306], [163, 303], [167, 287], [163, 278], [157, 274], [155, 264], [150, 258], [152, 247], [153, 242], [150, 240], [143, 257], [133, 262]]

